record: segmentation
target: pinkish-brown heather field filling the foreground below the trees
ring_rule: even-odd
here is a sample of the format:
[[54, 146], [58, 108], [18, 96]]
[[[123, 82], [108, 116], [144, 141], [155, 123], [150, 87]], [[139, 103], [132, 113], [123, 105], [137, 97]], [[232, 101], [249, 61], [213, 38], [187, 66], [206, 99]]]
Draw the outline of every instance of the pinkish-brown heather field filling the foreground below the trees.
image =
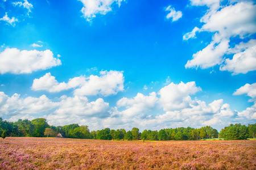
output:
[[0, 169], [256, 169], [256, 141], [7, 137]]

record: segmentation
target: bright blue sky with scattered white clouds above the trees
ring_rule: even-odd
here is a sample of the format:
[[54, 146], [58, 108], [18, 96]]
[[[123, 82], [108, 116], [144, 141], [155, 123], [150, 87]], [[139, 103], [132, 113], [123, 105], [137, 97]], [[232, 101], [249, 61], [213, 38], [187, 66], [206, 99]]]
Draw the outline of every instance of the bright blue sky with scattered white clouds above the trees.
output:
[[0, 117], [221, 130], [256, 120], [253, 1], [0, 2]]

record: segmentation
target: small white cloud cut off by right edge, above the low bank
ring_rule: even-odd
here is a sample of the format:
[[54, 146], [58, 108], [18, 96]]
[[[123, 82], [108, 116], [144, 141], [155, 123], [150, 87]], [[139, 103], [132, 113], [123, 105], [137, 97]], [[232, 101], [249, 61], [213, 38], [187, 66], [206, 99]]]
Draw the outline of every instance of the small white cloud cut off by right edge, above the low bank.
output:
[[242, 86], [233, 93], [233, 95], [243, 95], [246, 94], [250, 96], [252, 99], [256, 98], [256, 83], [248, 84], [246, 83], [245, 86]]

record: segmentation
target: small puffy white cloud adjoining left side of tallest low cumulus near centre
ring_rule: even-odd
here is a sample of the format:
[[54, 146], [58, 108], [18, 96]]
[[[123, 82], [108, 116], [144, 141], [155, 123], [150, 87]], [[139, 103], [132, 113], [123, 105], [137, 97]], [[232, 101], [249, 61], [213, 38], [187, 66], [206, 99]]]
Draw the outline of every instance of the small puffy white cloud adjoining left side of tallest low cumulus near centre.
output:
[[133, 117], [138, 114], [150, 112], [158, 101], [156, 93], [152, 92], [149, 96], [144, 96], [138, 93], [133, 99], [127, 99], [123, 97], [117, 101], [118, 107], [126, 107], [125, 111], [122, 111], [124, 117]]

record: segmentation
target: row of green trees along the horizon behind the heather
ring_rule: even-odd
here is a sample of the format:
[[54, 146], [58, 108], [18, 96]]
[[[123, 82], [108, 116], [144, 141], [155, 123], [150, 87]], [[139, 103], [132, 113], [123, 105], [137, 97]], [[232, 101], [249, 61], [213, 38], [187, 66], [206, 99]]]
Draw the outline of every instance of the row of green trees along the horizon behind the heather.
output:
[[256, 124], [248, 126], [241, 124], [230, 124], [218, 133], [211, 126], [195, 128], [175, 128], [157, 130], [143, 130], [138, 128], [129, 131], [125, 129], [90, 131], [88, 126], [79, 124], [70, 124], [65, 126], [50, 126], [45, 118], [36, 118], [32, 121], [19, 119], [16, 122], [3, 121], [0, 117], [0, 134], [2, 137], [56, 137], [57, 134], [65, 138], [78, 139], [102, 139], [102, 140], [128, 140], [137, 141], [181, 141], [181, 140], [199, 140], [210, 138], [224, 138], [225, 140], [240, 140], [255, 138]]

